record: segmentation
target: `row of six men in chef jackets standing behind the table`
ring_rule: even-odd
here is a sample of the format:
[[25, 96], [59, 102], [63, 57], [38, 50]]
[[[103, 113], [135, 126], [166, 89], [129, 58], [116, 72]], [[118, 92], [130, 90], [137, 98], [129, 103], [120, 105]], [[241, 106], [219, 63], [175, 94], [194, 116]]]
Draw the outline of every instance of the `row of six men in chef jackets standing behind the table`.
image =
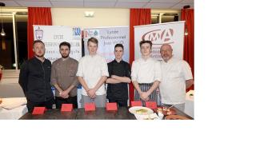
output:
[[[70, 43], [59, 45], [59, 58], [51, 65], [44, 58], [46, 52], [42, 41], [33, 44], [34, 58], [26, 61], [20, 70], [19, 84], [27, 99], [27, 108], [32, 112], [36, 106], [52, 109], [55, 104], [60, 109], [62, 104], [73, 104], [78, 108], [77, 85], [82, 85], [84, 105], [94, 102], [96, 107], [105, 107], [106, 98], [118, 106], [127, 106], [128, 83], [132, 81], [135, 88], [135, 101], [158, 101], [162, 105], [175, 105], [184, 110], [186, 89], [193, 85], [190, 66], [183, 60], [173, 58], [172, 47], [161, 46], [162, 62], [150, 58], [152, 42], [140, 42], [142, 58], [130, 64], [122, 60], [124, 47], [114, 46], [114, 61], [97, 54], [98, 40], [90, 38], [87, 42], [88, 55], [76, 61], [70, 58]], [[107, 89], [105, 86], [107, 84]], [[55, 88], [55, 97], [51, 86]], [[160, 90], [160, 97], [157, 90]]]

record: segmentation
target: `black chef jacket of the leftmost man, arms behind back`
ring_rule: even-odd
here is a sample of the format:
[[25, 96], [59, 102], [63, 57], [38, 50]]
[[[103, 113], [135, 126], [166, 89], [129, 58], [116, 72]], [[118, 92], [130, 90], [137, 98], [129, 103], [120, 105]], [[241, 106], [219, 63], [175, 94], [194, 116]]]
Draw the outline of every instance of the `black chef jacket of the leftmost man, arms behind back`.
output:
[[34, 57], [22, 65], [18, 83], [22, 86], [27, 100], [43, 102], [54, 98], [50, 85], [50, 70], [51, 63], [48, 59], [41, 62]]

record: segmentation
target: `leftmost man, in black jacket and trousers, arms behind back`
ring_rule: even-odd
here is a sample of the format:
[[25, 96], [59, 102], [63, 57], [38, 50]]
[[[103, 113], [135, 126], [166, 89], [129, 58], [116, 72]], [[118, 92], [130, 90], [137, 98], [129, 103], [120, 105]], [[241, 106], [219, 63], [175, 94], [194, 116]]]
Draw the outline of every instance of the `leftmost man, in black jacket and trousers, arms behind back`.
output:
[[42, 41], [33, 42], [34, 58], [26, 61], [20, 70], [18, 83], [26, 96], [26, 107], [31, 113], [36, 106], [52, 109], [54, 93], [50, 85], [51, 63], [44, 58], [46, 53]]

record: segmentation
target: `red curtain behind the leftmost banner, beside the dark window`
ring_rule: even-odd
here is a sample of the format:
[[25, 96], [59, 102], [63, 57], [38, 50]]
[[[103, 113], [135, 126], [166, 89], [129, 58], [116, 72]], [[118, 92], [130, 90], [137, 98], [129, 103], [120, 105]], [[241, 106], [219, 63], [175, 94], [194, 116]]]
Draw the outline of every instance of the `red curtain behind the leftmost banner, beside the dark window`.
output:
[[34, 32], [33, 25], [51, 26], [51, 12], [50, 7], [29, 7], [28, 8], [28, 20], [27, 20], [27, 45], [28, 45], [28, 58], [34, 56], [33, 53], [33, 41]]

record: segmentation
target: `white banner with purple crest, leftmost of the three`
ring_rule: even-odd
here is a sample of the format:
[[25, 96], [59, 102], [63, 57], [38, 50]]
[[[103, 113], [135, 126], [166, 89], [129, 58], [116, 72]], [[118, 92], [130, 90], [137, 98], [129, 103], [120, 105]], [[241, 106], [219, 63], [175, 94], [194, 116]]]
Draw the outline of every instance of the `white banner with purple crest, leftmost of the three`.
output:
[[42, 40], [46, 46], [45, 58], [54, 62], [61, 58], [59, 44], [69, 42], [70, 57], [76, 60], [82, 58], [82, 36], [79, 27], [70, 26], [34, 26], [34, 40]]

